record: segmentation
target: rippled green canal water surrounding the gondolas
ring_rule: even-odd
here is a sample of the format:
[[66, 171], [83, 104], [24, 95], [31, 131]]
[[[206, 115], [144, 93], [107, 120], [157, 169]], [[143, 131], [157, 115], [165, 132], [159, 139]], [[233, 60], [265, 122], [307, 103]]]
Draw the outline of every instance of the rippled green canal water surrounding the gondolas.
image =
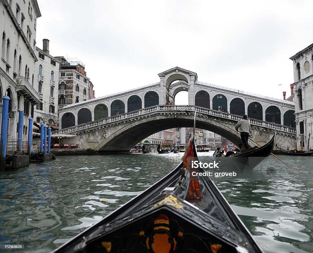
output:
[[[199, 153], [212, 162], [212, 153]], [[265, 252], [313, 252], [313, 157], [212, 177]], [[59, 156], [0, 175], [0, 244], [51, 252], [161, 179], [180, 154]]]

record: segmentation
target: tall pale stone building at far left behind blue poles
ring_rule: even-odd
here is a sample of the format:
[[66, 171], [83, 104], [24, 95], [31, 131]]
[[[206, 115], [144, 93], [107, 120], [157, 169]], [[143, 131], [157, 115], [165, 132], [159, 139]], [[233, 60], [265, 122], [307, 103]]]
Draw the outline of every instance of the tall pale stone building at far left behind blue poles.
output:
[[[23, 118], [23, 140], [27, 139], [28, 118], [33, 106], [39, 103], [34, 88], [36, 56], [36, 24], [41, 13], [36, 0], [0, 0], [0, 97], [6, 93], [9, 100], [8, 139], [17, 139], [19, 115]], [[2, 100], [0, 102], [2, 115]], [[20, 113], [23, 112], [23, 113]]]

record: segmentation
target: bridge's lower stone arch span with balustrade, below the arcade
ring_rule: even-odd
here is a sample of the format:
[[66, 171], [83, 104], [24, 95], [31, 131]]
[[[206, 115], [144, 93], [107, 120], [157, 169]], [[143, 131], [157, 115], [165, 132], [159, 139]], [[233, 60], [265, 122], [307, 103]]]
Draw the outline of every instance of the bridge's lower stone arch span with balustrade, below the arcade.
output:
[[[63, 138], [63, 143], [79, 144], [80, 148], [97, 151], [126, 151], [147, 136], [169, 128], [193, 127], [194, 113], [196, 127], [220, 134], [235, 144], [241, 143], [235, 124], [242, 118], [217, 110], [197, 106], [156, 105], [123, 113], [104, 119], [61, 129], [54, 134], [75, 134], [76, 137]], [[265, 144], [276, 130], [276, 143], [280, 146], [296, 145], [295, 128], [249, 119], [252, 139]], [[250, 140], [251, 146], [255, 144]]]

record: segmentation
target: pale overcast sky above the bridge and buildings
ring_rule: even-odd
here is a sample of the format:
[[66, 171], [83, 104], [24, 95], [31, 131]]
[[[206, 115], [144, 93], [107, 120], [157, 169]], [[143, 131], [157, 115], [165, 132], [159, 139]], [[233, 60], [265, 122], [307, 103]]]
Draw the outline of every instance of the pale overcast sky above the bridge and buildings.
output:
[[[198, 81], [282, 99], [289, 59], [313, 43], [313, 1], [37, 0], [37, 46], [78, 58], [95, 96], [159, 82], [181, 67]], [[280, 85], [281, 84], [281, 85]]]

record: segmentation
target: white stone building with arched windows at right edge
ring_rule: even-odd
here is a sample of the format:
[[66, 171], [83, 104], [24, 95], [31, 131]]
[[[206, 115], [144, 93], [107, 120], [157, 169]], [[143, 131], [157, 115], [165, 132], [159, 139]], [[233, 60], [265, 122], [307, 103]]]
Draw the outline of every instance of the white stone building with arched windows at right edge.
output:
[[313, 149], [313, 44], [290, 57], [294, 68], [297, 149]]

